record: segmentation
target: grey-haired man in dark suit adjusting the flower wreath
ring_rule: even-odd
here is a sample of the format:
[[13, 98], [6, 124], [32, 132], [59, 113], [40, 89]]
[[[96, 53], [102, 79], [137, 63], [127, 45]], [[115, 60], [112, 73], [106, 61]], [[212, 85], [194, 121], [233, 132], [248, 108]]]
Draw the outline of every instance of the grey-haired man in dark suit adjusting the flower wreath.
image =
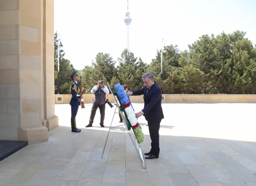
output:
[[151, 73], [146, 73], [142, 76], [144, 88], [132, 92], [128, 92], [127, 96], [139, 96], [144, 94], [144, 109], [136, 113], [136, 117], [145, 116], [148, 122], [148, 129], [151, 138], [151, 150], [145, 153], [148, 155], [146, 159], [158, 158], [159, 156], [159, 128], [163, 119], [162, 111], [162, 93], [159, 86], [154, 81], [154, 76]]

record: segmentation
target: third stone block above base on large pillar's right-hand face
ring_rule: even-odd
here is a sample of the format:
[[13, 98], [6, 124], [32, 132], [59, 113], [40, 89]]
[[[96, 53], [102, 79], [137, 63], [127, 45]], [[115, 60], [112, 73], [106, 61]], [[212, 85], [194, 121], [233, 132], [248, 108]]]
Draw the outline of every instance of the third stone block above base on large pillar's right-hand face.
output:
[[[33, 92], [31, 89], [33, 87]], [[20, 99], [36, 99], [41, 98], [41, 85], [37, 84], [27, 84], [27, 85], [18, 85], [19, 98]]]

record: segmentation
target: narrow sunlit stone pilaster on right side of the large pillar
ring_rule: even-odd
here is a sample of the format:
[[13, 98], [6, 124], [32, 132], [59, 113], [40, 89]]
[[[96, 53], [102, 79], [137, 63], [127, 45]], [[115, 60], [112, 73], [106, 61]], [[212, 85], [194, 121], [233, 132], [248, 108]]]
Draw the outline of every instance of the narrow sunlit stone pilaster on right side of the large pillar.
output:
[[54, 0], [42, 0], [42, 3], [42, 125], [50, 131], [59, 126], [54, 106]]

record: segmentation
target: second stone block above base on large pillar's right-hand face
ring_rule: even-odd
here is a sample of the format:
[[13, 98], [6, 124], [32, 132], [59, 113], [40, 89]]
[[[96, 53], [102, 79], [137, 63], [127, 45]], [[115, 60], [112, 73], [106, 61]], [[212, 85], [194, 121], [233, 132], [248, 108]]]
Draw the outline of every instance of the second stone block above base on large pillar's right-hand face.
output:
[[41, 112], [42, 99], [23, 99], [22, 100], [22, 113]]

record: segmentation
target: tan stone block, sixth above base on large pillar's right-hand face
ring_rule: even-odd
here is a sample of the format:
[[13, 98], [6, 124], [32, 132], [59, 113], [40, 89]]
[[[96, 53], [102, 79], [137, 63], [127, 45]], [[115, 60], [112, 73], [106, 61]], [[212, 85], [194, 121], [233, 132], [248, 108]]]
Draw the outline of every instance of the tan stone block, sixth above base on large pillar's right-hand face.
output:
[[21, 55], [41, 56], [41, 43], [22, 40]]

